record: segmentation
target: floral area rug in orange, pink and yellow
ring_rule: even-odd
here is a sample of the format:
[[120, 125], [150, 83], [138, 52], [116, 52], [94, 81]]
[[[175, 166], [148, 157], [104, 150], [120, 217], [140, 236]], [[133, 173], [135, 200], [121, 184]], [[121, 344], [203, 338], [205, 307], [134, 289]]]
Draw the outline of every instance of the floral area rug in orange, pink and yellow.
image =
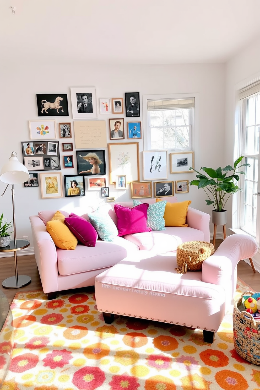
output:
[[[238, 280], [236, 298], [246, 290]], [[202, 331], [172, 324], [123, 316], [105, 324], [94, 294], [81, 291], [51, 301], [42, 291], [16, 294], [1, 390], [260, 390], [260, 367], [234, 349], [232, 307], [207, 344]]]

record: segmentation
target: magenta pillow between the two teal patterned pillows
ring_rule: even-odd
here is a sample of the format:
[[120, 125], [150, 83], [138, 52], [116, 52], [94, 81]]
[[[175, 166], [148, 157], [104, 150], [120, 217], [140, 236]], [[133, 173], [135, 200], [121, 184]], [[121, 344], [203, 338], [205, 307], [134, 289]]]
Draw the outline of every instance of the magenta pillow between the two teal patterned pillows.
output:
[[150, 232], [152, 229], [147, 227], [148, 207], [148, 203], [141, 203], [133, 208], [115, 204], [114, 210], [117, 216], [118, 235], [124, 236], [125, 234]]

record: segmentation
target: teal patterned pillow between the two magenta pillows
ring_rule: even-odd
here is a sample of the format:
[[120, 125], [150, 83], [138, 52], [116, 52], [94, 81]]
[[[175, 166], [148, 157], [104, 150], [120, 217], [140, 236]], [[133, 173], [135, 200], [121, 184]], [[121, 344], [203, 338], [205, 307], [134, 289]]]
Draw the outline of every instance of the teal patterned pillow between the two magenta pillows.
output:
[[101, 214], [98, 211], [95, 211], [94, 213], [88, 214], [88, 218], [91, 225], [97, 230], [97, 234], [101, 240], [113, 241], [118, 235], [117, 227], [108, 214]]

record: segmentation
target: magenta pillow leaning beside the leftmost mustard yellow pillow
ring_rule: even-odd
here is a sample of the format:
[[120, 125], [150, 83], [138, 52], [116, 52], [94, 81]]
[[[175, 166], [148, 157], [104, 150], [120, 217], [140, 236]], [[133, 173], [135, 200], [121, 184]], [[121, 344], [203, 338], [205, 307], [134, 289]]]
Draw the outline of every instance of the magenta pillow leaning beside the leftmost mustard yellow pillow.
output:
[[[70, 214], [71, 215], [71, 214]], [[65, 225], [74, 234], [79, 243], [85, 246], [95, 246], [97, 241], [97, 232], [90, 222], [78, 215], [67, 217], [64, 220]]]

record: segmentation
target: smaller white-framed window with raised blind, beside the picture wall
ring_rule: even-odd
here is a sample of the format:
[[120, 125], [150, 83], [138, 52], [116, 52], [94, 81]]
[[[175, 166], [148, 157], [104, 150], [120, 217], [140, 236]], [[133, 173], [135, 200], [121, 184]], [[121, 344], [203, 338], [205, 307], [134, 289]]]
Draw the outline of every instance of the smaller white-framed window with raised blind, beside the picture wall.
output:
[[195, 97], [145, 96], [147, 149], [193, 150]]

